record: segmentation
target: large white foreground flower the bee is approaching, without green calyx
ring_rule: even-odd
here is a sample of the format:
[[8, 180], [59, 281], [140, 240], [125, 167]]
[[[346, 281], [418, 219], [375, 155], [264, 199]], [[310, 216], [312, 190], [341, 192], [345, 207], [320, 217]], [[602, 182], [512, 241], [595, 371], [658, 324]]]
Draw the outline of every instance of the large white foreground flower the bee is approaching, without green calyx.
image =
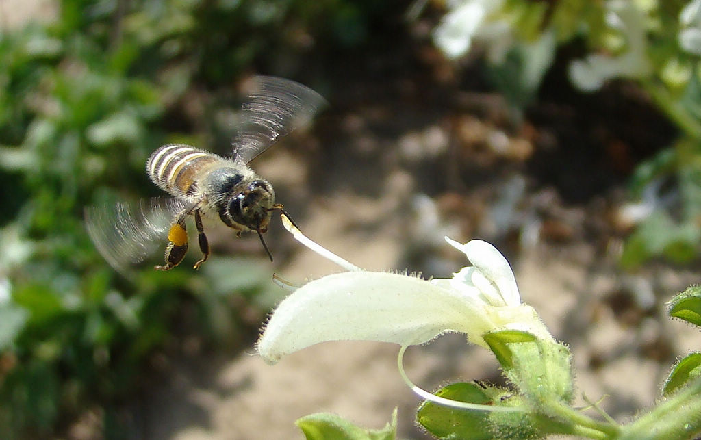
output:
[[368, 272], [312, 242], [283, 216], [297, 240], [350, 270], [296, 289], [280, 303], [257, 349], [274, 364], [281, 357], [325, 341], [382, 341], [404, 346], [431, 341], [448, 331], [482, 336], [497, 329], [529, 331], [552, 340], [529, 305], [521, 303], [512, 270], [498, 250], [482, 240], [461, 245], [472, 266], [449, 279]]

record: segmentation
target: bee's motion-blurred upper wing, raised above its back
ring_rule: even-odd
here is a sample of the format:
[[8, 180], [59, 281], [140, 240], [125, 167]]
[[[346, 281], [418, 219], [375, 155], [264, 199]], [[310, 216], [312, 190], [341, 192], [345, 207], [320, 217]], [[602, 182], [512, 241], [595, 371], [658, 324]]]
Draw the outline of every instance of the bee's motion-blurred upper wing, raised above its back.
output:
[[306, 125], [326, 101], [306, 85], [274, 76], [254, 76], [240, 114], [233, 155], [248, 163], [278, 138]]

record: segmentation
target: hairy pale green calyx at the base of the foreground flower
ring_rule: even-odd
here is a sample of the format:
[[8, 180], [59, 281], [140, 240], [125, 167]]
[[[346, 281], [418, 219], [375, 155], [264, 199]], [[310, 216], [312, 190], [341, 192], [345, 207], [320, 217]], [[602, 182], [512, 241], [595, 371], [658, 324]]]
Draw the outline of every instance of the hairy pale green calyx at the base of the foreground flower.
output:
[[[570, 352], [550, 339], [520, 330], [492, 331], [482, 336], [505, 375], [540, 412], [543, 403], [573, 399]], [[547, 413], [547, 411], [546, 411]]]

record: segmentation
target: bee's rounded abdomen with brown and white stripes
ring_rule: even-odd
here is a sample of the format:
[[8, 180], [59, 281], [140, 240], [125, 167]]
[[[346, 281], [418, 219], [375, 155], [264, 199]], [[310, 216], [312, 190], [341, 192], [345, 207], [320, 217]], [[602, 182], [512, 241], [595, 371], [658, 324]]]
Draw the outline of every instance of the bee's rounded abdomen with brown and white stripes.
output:
[[220, 160], [219, 156], [189, 145], [164, 145], [151, 154], [146, 171], [158, 188], [176, 197], [186, 197], [197, 190], [198, 172]]

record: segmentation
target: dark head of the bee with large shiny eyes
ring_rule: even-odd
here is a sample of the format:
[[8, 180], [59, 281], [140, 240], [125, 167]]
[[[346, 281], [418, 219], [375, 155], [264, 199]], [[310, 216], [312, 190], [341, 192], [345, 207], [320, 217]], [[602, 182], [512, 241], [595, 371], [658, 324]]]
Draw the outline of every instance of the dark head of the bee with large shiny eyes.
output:
[[256, 179], [244, 191], [233, 195], [226, 210], [236, 223], [264, 233], [268, 230], [274, 204], [275, 193], [271, 184]]

